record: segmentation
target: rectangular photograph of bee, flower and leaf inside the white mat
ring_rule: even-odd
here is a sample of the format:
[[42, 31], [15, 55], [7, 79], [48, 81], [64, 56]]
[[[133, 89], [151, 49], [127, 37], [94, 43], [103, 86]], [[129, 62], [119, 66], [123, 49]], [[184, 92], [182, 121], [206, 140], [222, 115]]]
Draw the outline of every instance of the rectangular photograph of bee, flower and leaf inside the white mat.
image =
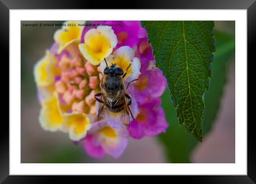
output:
[[21, 20], [21, 163], [236, 163], [235, 26]]

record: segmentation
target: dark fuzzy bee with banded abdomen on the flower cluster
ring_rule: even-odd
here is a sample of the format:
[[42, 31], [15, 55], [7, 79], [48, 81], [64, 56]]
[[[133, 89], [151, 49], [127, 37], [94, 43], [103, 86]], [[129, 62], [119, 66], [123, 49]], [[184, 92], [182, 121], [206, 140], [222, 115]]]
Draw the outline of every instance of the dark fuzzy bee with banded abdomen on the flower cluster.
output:
[[[95, 99], [99, 102], [98, 122], [100, 122], [100, 118], [102, 117], [107, 121], [110, 114], [115, 116], [116, 113], [121, 113], [121, 117], [117, 118], [117, 121], [119, 121], [122, 127], [129, 129], [130, 119], [132, 118], [134, 120], [134, 116], [129, 108], [132, 104], [132, 98], [126, 91], [130, 83], [137, 81], [138, 79], [128, 82], [127, 87], [125, 88], [124, 77], [131, 64], [126, 68], [126, 72], [124, 73], [122, 68], [117, 67], [116, 63], [112, 63], [111, 66], [108, 66], [106, 60], [105, 63], [107, 66], [104, 69], [103, 78], [100, 84], [101, 92], [94, 95]], [[100, 123], [99, 126], [101, 126]]]

